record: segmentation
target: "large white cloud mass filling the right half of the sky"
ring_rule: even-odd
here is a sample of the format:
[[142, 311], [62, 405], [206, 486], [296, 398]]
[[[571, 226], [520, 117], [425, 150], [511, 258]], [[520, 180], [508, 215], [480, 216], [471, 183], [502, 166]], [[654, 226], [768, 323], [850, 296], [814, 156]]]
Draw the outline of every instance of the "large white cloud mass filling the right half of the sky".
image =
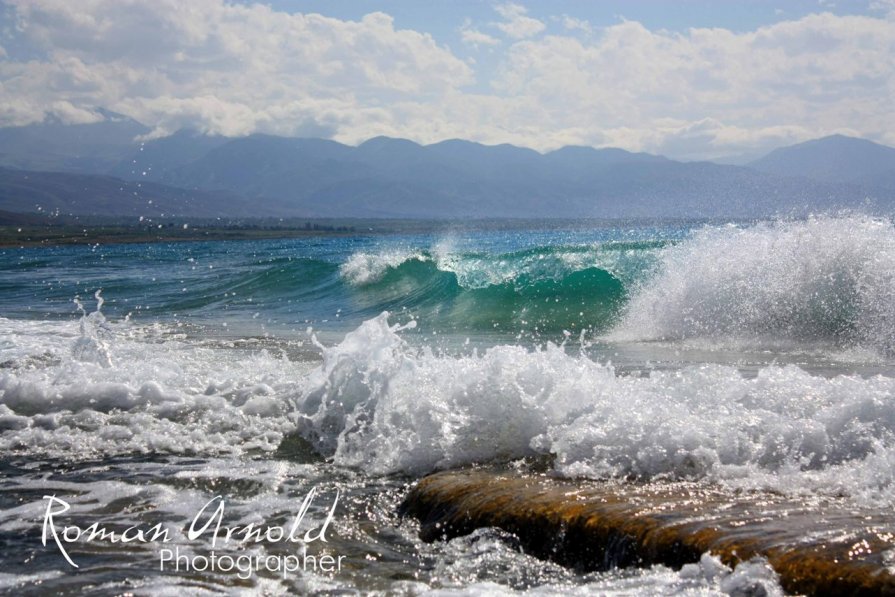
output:
[[547, 130], [598, 130], [634, 149], [656, 151], [692, 136], [688, 125], [717, 123], [681, 157], [749, 149], [795, 130], [891, 142], [880, 133], [895, 128], [895, 23], [820, 14], [745, 33], [674, 33], [625, 21], [592, 42], [513, 44], [495, 88], [542, 106]]

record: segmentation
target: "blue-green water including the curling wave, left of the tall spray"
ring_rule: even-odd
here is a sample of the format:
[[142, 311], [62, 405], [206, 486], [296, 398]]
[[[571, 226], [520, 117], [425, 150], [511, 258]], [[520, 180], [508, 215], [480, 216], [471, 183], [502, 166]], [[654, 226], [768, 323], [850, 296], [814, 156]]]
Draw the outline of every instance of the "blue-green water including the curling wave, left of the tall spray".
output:
[[[321, 237], [6, 250], [8, 317], [104, 311], [247, 332], [347, 330], [384, 310], [442, 331], [605, 328], [679, 228]], [[496, 324], [496, 325], [495, 325]]]

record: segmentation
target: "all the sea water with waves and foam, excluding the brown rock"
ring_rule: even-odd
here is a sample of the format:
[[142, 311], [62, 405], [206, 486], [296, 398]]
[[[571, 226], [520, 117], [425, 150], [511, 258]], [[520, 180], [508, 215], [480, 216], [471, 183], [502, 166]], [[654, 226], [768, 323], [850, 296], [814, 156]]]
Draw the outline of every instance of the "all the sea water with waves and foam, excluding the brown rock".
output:
[[[408, 485], [474, 463], [895, 506], [887, 220], [2, 249], [0, 271], [10, 592], [779, 591], [709, 555], [584, 575], [494, 530], [421, 543]], [[288, 530], [312, 490], [326, 542], [186, 536], [218, 495], [225, 526]], [[60, 528], [170, 540], [64, 543], [75, 570], [41, 543], [47, 495]], [[344, 559], [161, 570], [175, 547]]]

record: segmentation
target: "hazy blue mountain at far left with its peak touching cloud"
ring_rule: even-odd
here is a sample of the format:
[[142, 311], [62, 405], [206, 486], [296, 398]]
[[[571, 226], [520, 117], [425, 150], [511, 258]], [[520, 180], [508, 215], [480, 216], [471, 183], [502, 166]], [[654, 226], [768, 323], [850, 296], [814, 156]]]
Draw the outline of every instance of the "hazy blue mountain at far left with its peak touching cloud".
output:
[[105, 173], [133, 153], [135, 139], [149, 132], [136, 120], [98, 109], [90, 124], [63, 124], [56, 118], [0, 128], [0, 167], [22, 170]]

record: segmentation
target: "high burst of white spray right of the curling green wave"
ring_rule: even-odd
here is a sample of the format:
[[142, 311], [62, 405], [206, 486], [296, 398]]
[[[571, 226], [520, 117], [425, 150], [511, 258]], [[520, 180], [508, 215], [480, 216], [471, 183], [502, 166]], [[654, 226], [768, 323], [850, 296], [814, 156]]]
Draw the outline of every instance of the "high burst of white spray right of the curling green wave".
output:
[[895, 350], [895, 227], [866, 216], [706, 227], [666, 248], [610, 338]]

